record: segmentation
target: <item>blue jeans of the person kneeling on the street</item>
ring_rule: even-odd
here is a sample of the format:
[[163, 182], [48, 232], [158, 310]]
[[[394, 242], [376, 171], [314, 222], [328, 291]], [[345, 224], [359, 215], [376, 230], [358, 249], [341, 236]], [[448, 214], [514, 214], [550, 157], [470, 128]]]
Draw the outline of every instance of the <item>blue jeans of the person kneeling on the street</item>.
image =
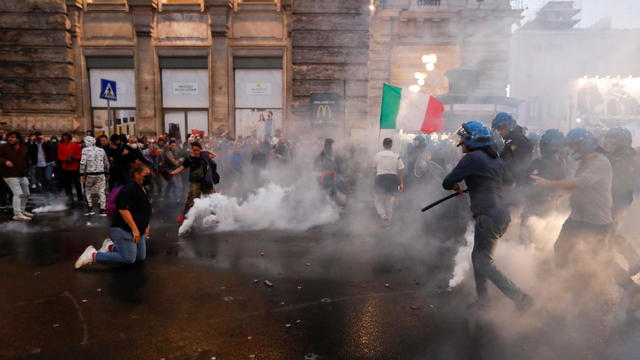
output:
[[136, 244], [131, 241], [133, 234], [121, 228], [109, 228], [109, 233], [114, 244], [113, 250], [97, 253], [97, 262], [133, 264], [136, 260], [142, 261], [147, 257], [147, 243], [144, 236], [140, 236], [140, 241]]

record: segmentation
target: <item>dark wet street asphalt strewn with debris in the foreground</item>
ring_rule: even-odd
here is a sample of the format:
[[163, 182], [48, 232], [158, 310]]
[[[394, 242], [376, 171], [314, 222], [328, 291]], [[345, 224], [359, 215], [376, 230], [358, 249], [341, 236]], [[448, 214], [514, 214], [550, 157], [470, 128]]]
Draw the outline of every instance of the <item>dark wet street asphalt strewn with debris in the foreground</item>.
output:
[[154, 218], [144, 263], [79, 271], [108, 219], [5, 215], [0, 359], [637, 359], [635, 323], [582, 342], [544, 309], [471, 311], [471, 279], [447, 289], [455, 252], [388, 251], [397, 229], [178, 237], [174, 210]]

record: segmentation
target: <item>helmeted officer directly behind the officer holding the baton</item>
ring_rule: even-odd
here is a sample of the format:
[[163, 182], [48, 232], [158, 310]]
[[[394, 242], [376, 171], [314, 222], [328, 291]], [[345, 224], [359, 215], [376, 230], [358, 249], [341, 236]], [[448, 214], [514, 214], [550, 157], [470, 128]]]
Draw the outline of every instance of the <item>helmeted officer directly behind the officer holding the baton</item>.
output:
[[527, 170], [533, 160], [533, 145], [525, 136], [525, 130], [505, 112], [496, 115], [491, 127], [504, 139], [504, 148], [500, 152], [500, 157], [513, 174], [516, 186], [519, 186], [529, 175]]

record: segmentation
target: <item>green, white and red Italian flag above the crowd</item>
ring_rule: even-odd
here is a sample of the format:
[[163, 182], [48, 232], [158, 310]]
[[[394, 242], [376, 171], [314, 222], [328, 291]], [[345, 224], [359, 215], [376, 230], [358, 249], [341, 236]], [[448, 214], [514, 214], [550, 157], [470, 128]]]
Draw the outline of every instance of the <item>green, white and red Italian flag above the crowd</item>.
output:
[[380, 129], [442, 132], [444, 106], [438, 99], [389, 84], [382, 90]]

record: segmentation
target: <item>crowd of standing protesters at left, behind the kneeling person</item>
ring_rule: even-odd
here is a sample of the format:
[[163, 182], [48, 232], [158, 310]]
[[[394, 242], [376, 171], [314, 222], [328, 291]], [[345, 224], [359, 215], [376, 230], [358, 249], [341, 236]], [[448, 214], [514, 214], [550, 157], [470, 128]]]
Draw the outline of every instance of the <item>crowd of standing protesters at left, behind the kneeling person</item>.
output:
[[48, 202], [62, 195], [67, 206], [85, 208], [87, 216], [106, 216], [109, 191], [131, 181], [133, 166], [145, 165], [151, 170], [147, 188], [154, 200], [179, 204], [187, 199], [178, 219], [182, 221], [194, 198], [214, 191], [220, 181], [218, 165], [233, 178], [263, 169], [269, 161], [287, 163], [291, 153], [279, 130], [263, 141], [224, 133], [209, 138], [194, 131], [184, 142], [169, 134], [96, 138], [87, 131], [58, 138], [39, 131], [28, 137], [0, 132], [0, 174], [5, 179], [0, 182], [0, 205], [12, 205], [13, 220], [29, 221], [33, 214], [26, 211], [26, 202], [38, 192]]

